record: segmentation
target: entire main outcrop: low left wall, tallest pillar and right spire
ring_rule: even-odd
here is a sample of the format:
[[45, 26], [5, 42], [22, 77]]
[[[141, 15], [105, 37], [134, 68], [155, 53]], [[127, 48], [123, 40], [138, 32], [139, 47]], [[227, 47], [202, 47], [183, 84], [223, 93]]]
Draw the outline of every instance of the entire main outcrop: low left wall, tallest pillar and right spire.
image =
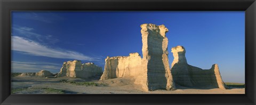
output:
[[186, 87], [226, 88], [222, 82], [219, 67], [213, 64], [209, 70], [190, 66], [183, 46], [172, 48], [174, 60], [172, 68], [168, 59], [168, 29], [164, 26], [143, 24], [142, 59], [139, 53], [129, 56], [114, 56], [105, 59], [105, 68], [100, 80], [132, 77], [134, 84], [145, 91], [158, 89], [175, 90], [175, 84]]

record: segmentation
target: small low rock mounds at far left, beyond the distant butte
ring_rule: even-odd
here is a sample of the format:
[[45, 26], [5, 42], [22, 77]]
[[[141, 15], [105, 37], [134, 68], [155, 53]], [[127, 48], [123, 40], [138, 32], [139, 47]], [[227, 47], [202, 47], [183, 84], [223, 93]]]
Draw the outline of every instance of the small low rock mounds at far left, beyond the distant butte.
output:
[[41, 70], [39, 72], [24, 72], [18, 75], [18, 77], [33, 77], [33, 76], [48, 77], [48, 76], [53, 76], [53, 74], [50, 71]]

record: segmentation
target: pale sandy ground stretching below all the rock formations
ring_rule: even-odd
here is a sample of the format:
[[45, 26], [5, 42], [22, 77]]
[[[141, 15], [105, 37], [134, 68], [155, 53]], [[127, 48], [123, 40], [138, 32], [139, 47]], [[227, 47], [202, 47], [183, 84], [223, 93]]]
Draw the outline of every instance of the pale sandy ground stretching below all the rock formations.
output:
[[[66, 79], [68, 83], [59, 80]], [[94, 82], [101, 85], [76, 85], [70, 82]], [[175, 91], [156, 90], [145, 92], [139, 85], [133, 84], [129, 78], [115, 78], [108, 80], [82, 78], [43, 78], [43, 77], [13, 77], [13, 94], [244, 94], [245, 88], [187, 88], [178, 86]]]

